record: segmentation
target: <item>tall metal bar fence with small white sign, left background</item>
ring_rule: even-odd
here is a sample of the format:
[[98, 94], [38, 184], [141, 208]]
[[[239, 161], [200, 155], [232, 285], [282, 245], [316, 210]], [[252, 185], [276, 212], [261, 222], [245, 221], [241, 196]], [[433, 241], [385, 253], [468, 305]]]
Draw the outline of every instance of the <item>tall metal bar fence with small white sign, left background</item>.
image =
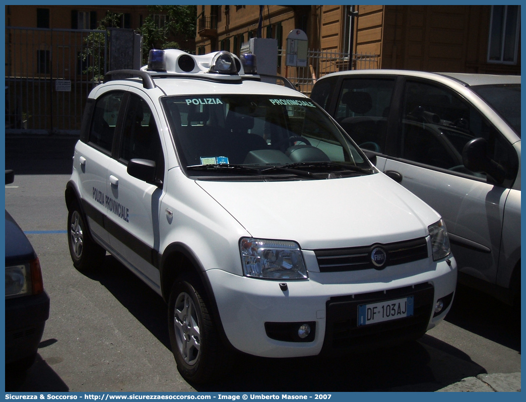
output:
[[106, 31], [6, 27], [6, 133], [79, 132], [106, 54]]

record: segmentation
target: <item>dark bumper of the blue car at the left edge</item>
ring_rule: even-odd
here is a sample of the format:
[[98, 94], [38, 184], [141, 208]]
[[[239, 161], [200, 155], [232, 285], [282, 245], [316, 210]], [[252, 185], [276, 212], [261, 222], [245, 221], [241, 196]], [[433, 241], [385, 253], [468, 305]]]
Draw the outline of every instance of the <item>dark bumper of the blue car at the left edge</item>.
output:
[[49, 296], [22, 296], [5, 300], [5, 362], [36, 354], [49, 317]]

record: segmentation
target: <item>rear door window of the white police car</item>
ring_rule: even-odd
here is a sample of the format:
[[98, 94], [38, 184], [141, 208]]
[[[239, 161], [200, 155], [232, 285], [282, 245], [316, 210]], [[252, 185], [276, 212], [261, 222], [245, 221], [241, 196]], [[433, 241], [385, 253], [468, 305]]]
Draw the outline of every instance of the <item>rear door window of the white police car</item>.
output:
[[110, 92], [100, 96], [95, 103], [88, 142], [107, 153], [112, 152], [113, 136], [123, 95], [123, 92]]

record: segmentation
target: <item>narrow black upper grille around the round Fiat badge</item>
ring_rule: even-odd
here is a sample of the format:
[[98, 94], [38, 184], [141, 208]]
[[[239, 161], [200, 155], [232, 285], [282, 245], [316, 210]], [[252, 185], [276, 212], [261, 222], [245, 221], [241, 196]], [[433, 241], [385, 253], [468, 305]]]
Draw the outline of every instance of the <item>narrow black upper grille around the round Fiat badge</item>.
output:
[[[387, 262], [383, 267], [406, 264], [428, 257], [425, 237], [389, 244], [366, 247], [329, 248], [315, 250], [320, 272], [343, 272], [375, 268], [371, 252], [376, 247], [386, 250]], [[383, 268], [382, 267], [382, 268]]]

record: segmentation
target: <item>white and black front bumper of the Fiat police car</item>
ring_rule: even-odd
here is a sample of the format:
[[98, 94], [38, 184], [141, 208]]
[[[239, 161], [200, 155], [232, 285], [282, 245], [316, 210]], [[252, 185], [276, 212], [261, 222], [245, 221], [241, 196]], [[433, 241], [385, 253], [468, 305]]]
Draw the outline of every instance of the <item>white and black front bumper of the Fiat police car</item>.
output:
[[[206, 275], [232, 346], [262, 357], [300, 357], [376, 348], [422, 336], [446, 316], [457, 284], [454, 258], [432, 266], [424, 272], [421, 262], [388, 267], [383, 275], [373, 273], [383, 278], [375, 282], [357, 280], [356, 273], [309, 272], [308, 280], [284, 280], [286, 288], [280, 282], [220, 269], [208, 270]], [[395, 278], [396, 270], [405, 275]], [[358, 327], [358, 305], [406, 296], [414, 296], [413, 316]], [[434, 306], [442, 298], [449, 304], [435, 314]], [[315, 334], [306, 341], [278, 340], [279, 323], [284, 323], [285, 332], [291, 323], [309, 323]]]

